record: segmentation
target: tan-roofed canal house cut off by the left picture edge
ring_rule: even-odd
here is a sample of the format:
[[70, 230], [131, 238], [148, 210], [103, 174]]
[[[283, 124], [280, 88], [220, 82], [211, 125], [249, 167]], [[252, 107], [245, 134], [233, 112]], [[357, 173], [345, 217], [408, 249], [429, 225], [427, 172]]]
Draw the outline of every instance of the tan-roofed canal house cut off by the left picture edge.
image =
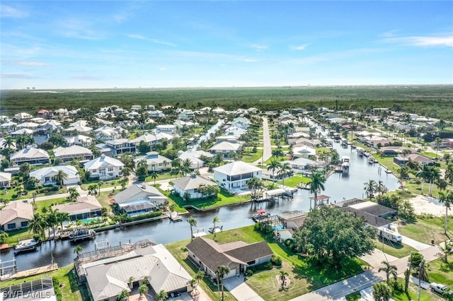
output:
[[32, 204], [27, 201], [11, 201], [0, 210], [0, 230], [27, 228], [31, 219], [33, 219]]

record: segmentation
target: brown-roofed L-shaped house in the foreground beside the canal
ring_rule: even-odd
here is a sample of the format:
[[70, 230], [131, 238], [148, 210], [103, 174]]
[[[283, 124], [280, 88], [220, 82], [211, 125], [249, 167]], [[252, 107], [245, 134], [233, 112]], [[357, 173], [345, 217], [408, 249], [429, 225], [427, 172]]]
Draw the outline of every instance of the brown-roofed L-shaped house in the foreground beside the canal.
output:
[[224, 276], [224, 279], [227, 279], [245, 272], [249, 266], [270, 261], [273, 255], [266, 242], [217, 244], [205, 237], [195, 238], [186, 248], [189, 252], [188, 258], [211, 278], [217, 278], [215, 272], [219, 266], [229, 267], [230, 272]]

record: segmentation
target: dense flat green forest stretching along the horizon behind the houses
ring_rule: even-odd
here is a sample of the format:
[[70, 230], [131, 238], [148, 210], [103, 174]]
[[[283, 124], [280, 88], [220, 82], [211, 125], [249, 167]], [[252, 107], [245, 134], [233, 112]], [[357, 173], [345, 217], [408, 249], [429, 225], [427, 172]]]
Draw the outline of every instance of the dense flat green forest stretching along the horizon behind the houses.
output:
[[79, 107], [98, 110], [108, 105], [173, 105], [187, 109], [257, 107], [287, 110], [369, 110], [387, 107], [453, 121], [453, 85], [370, 85], [268, 88], [140, 88], [112, 90], [1, 90], [0, 114]]

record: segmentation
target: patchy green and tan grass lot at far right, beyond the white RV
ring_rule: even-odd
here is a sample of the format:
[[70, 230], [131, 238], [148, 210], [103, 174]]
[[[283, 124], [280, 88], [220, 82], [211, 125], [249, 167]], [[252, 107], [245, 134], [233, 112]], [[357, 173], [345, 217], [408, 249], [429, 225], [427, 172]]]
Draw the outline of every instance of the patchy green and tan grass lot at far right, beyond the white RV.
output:
[[[453, 218], [449, 218], [447, 230], [451, 236], [453, 232]], [[402, 235], [430, 244], [434, 240], [436, 244], [448, 240], [444, 234], [444, 218], [433, 218], [429, 216], [418, 216], [414, 223], [400, 225], [398, 232]]]

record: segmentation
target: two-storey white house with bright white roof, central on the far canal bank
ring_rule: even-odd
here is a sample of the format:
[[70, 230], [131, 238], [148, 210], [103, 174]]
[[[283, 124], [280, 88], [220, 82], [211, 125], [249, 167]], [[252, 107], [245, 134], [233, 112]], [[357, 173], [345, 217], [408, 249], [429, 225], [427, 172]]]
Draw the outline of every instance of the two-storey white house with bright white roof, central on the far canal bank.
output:
[[214, 168], [214, 181], [228, 190], [246, 187], [249, 179], [262, 179], [262, 170], [242, 161], [234, 161]]

